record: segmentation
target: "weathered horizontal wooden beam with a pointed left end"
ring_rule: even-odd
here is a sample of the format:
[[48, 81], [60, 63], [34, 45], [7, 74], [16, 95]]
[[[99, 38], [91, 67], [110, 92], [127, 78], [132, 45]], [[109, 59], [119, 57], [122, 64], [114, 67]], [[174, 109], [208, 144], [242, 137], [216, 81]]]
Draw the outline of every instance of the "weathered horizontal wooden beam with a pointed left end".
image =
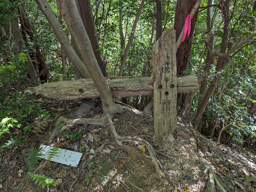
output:
[[[152, 77], [106, 77], [113, 97], [153, 95]], [[178, 93], [193, 93], [198, 90], [196, 76], [177, 77]], [[26, 92], [42, 94], [46, 98], [75, 100], [83, 98], [99, 98], [98, 91], [91, 79], [57, 81], [29, 87]]]

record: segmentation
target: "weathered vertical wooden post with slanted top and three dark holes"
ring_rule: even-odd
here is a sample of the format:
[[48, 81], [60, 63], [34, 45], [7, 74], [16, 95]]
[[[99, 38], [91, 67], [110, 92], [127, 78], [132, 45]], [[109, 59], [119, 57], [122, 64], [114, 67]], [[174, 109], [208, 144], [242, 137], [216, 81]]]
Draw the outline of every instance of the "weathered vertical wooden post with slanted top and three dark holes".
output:
[[167, 29], [153, 45], [154, 129], [164, 141], [177, 125], [176, 31]]

